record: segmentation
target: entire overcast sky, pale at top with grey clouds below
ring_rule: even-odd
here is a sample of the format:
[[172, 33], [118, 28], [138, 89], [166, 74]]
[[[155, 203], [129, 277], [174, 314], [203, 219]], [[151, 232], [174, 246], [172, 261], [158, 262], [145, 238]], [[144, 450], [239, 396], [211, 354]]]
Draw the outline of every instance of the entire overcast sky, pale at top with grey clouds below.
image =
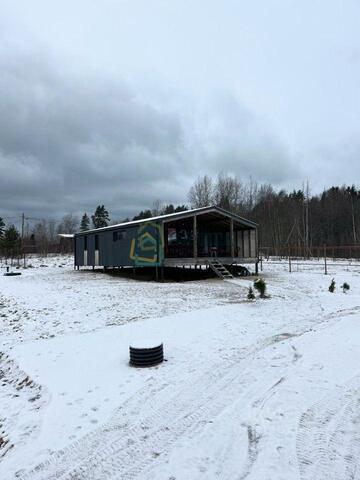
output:
[[360, 186], [358, 0], [0, 0], [0, 216]]

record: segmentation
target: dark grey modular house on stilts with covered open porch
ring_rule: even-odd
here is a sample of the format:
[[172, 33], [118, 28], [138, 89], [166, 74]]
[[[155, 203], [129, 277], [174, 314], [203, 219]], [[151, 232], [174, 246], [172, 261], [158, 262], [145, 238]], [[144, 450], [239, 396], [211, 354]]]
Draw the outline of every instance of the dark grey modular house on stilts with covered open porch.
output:
[[[258, 263], [257, 224], [219, 207], [204, 207], [75, 234], [76, 267], [210, 266]], [[226, 270], [226, 268], [225, 268]]]

